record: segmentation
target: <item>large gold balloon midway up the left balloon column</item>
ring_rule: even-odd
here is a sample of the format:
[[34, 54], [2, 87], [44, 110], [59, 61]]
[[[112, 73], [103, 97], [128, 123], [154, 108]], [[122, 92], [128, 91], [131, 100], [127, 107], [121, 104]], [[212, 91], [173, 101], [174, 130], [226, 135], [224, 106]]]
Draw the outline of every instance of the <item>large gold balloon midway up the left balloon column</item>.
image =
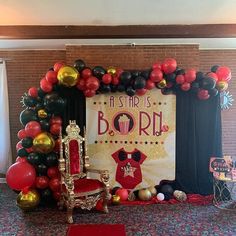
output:
[[55, 141], [51, 134], [42, 132], [33, 140], [33, 149], [35, 152], [49, 153], [53, 150]]

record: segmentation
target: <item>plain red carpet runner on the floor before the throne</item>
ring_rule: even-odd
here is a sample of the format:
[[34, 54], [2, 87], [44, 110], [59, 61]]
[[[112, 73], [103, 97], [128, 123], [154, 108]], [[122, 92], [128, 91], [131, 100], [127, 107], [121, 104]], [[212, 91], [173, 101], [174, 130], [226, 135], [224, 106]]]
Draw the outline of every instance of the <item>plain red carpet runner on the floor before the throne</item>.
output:
[[126, 236], [121, 224], [74, 224], [70, 225], [67, 236]]

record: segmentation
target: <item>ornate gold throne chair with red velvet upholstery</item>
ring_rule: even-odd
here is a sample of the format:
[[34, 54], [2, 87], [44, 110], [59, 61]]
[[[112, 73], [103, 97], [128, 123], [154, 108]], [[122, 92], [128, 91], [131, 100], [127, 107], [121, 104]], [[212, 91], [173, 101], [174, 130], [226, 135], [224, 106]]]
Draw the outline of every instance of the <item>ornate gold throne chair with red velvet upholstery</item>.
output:
[[[75, 121], [66, 128], [67, 135], [60, 134], [59, 170], [61, 173], [61, 198], [59, 207], [67, 208], [67, 222], [73, 223], [73, 209], [91, 210], [102, 201], [103, 211], [108, 213], [109, 172], [89, 168], [86, 137], [80, 135]], [[90, 179], [88, 172], [100, 175], [100, 180]]]

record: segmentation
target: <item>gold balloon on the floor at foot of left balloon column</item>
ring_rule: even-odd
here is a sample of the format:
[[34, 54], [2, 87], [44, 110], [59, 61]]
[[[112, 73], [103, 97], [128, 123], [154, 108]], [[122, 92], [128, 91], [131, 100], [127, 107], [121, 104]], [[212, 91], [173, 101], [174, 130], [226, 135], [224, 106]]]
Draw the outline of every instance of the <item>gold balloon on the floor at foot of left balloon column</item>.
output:
[[17, 206], [24, 211], [33, 210], [40, 201], [39, 193], [36, 190], [29, 190], [27, 193], [22, 191], [17, 196]]

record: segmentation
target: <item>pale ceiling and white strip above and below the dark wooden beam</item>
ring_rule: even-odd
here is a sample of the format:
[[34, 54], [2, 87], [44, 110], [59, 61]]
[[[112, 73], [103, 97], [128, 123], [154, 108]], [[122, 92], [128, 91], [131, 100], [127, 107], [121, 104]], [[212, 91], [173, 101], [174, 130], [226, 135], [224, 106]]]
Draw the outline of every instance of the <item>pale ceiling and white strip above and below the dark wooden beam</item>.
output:
[[[234, 0], [0, 0], [0, 25], [236, 24]], [[64, 49], [67, 44], [199, 44], [235, 48], [236, 39], [0, 40], [0, 49]]]

